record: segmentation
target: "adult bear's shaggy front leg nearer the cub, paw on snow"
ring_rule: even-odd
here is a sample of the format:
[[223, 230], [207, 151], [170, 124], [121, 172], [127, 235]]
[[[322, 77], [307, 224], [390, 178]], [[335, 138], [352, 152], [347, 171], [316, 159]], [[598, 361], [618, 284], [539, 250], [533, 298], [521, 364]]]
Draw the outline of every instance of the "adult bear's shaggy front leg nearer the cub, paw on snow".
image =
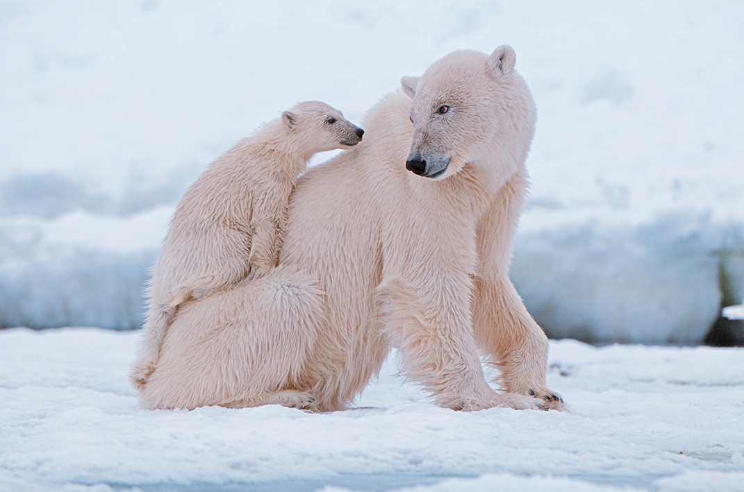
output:
[[[448, 296], [452, 290], [456, 289], [449, 289]], [[472, 338], [467, 295], [464, 302], [436, 305], [400, 279], [383, 281], [378, 294], [382, 323], [400, 349], [405, 374], [428, 390], [440, 407], [542, 409], [536, 398], [501, 394], [486, 382]]]

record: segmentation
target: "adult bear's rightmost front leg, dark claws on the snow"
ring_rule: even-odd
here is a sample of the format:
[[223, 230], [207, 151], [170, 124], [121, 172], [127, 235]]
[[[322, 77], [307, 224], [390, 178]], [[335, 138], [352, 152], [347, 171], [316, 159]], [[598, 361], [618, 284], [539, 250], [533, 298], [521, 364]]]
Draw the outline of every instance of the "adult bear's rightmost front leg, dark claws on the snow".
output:
[[535, 396], [545, 410], [568, 410], [545, 383], [548, 337], [508, 277], [475, 279], [473, 328], [476, 343], [501, 370], [500, 382], [507, 392]]

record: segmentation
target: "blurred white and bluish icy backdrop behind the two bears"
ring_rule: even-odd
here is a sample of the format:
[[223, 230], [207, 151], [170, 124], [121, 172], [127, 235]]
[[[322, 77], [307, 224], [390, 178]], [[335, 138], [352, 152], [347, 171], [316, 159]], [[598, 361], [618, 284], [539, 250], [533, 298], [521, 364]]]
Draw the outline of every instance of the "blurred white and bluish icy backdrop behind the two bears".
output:
[[744, 297], [742, 25], [737, 1], [4, 0], [0, 326], [138, 326], [176, 201], [231, 144], [509, 44], [539, 109], [527, 308], [552, 337], [699, 343]]

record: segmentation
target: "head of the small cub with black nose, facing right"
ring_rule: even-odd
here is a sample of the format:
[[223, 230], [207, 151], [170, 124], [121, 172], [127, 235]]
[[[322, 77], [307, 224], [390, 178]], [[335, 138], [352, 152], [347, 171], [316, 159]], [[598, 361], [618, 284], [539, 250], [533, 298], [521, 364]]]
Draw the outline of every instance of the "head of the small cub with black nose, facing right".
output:
[[348, 149], [362, 141], [365, 131], [344, 119], [341, 111], [318, 101], [299, 103], [284, 111], [282, 123], [308, 151]]

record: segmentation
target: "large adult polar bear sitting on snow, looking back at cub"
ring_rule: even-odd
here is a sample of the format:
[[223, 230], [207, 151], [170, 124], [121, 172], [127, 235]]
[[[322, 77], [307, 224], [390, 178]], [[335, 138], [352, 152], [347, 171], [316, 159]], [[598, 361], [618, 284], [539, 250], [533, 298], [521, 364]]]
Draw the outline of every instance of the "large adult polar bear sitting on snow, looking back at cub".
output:
[[394, 346], [442, 407], [562, 410], [508, 277], [536, 119], [514, 62], [457, 51], [403, 77], [359, 146], [298, 181], [278, 268], [179, 311], [144, 407], [342, 410]]

